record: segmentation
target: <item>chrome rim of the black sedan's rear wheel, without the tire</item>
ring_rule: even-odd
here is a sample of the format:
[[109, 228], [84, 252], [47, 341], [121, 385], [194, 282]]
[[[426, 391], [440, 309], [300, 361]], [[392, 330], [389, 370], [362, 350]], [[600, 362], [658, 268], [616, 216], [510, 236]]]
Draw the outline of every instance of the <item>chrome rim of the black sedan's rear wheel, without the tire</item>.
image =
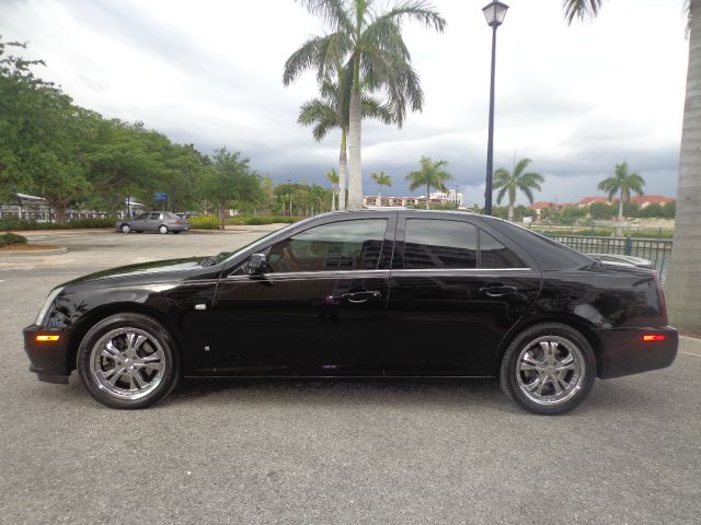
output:
[[516, 378], [521, 392], [538, 405], [560, 405], [582, 388], [585, 378], [582, 351], [568, 339], [543, 336], [530, 341], [518, 355]]

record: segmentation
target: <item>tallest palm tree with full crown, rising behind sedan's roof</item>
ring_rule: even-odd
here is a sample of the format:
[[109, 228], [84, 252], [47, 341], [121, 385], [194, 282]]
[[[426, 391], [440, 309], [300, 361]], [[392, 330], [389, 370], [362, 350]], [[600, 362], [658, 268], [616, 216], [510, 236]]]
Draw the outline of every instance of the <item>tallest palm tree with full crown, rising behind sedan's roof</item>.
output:
[[411, 66], [409, 49], [402, 38], [401, 24], [414, 20], [443, 32], [446, 21], [426, 2], [407, 0], [377, 14], [371, 0], [299, 0], [307, 10], [329, 26], [324, 36], [312, 36], [285, 63], [283, 82], [288, 85], [308, 69], [317, 70], [323, 82], [343, 65], [350, 83], [348, 119], [348, 209], [363, 208], [360, 165], [361, 86], [388, 96], [398, 126], [406, 108], [421, 110], [424, 93]]

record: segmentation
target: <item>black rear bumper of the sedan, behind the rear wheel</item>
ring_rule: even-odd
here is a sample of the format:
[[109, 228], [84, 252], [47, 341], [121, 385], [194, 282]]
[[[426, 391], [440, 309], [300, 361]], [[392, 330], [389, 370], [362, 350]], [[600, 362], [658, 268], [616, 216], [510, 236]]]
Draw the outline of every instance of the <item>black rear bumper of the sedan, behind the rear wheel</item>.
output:
[[[665, 336], [664, 341], [643, 341], [643, 335]], [[677, 357], [679, 335], [662, 328], [616, 328], [598, 330], [601, 341], [598, 377], [606, 380], [669, 366]]]

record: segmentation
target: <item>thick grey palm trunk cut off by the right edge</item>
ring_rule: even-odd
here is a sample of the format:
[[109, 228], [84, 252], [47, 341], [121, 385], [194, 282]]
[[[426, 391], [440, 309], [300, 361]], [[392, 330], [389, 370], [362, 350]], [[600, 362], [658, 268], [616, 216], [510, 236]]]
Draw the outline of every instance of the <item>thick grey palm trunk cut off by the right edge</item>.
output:
[[687, 97], [681, 129], [677, 217], [665, 290], [671, 324], [701, 334], [701, 1], [691, 1]]

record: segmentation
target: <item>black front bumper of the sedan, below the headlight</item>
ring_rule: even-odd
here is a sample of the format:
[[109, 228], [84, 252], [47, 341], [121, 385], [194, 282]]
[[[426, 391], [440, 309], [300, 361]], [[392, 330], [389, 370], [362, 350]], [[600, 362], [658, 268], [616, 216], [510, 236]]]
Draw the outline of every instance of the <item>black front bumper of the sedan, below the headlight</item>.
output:
[[[30, 372], [47, 383], [68, 383], [73, 366], [68, 361], [68, 334], [30, 325], [22, 330], [24, 351], [30, 358]], [[59, 336], [57, 341], [37, 341], [36, 336]]]

